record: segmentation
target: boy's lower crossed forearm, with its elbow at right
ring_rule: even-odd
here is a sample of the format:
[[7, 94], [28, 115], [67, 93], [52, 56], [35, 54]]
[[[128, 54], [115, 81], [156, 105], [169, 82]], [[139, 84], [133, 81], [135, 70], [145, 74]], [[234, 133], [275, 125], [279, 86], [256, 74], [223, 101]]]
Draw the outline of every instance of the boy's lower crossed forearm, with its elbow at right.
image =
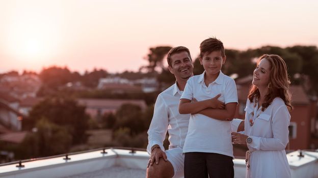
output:
[[199, 114], [215, 118], [221, 121], [232, 121], [235, 115], [237, 103], [227, 103], [224, 109], [211, 109], [207, 108], [199, 111]]

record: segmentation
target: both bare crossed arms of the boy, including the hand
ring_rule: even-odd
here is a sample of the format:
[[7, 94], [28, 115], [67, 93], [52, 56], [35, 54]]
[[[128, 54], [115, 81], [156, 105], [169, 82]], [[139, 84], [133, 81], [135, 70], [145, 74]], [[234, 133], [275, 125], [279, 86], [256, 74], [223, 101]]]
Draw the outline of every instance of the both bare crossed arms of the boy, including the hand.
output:
[[200, 113], [211, 118], [221, 121], [232, 121], [234, 118], [237, 103], [227, 103], [224, 105], [218, 98], [221, 94], [214, 98], [191, 102], [188, 99], [180, 99], [180, 114], [196, 114]]

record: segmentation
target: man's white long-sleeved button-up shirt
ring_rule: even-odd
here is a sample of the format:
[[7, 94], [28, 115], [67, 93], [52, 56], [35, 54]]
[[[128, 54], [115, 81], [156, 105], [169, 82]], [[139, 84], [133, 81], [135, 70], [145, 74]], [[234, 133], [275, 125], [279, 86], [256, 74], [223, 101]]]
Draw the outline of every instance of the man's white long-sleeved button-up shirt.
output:
[[[159, 145], [164, 151], [163, 142], [169, 133], [169, 149], [173, 147], [183, 148], [184, 139], [188, 132], [189, 119], [191, 114], [179, 113], [179, 102], [182, 91], [177, 84], [173, 84], [167, 90], [158, 95], [154, 105], [153, 117], [148, 130], [147, 152], [151, 154], [151, 147]], [[234, 119], [232, 124], [233, 131], [237, 130], [241, 121]]]

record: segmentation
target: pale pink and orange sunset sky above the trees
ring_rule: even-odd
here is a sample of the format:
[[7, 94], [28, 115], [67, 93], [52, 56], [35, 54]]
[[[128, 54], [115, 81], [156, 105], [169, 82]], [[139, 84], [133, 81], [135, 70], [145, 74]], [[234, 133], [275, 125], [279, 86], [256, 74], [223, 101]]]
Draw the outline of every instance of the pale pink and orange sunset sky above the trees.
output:
[[0, 0], [0, 73], [137, 71], [149, 47], [318, 46], [318, 1]]

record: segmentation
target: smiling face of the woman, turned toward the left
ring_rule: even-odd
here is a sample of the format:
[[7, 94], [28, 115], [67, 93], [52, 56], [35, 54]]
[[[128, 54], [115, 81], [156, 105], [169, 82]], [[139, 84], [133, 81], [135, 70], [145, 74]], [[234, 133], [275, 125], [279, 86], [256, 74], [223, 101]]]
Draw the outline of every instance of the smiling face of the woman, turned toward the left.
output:
[[254, 70], [252, 84], [257, 86], [258, 88], [268, 87], [268, 84], [270, 82], [270, 73], [270, 62], [266, 58], [263, 58]]

